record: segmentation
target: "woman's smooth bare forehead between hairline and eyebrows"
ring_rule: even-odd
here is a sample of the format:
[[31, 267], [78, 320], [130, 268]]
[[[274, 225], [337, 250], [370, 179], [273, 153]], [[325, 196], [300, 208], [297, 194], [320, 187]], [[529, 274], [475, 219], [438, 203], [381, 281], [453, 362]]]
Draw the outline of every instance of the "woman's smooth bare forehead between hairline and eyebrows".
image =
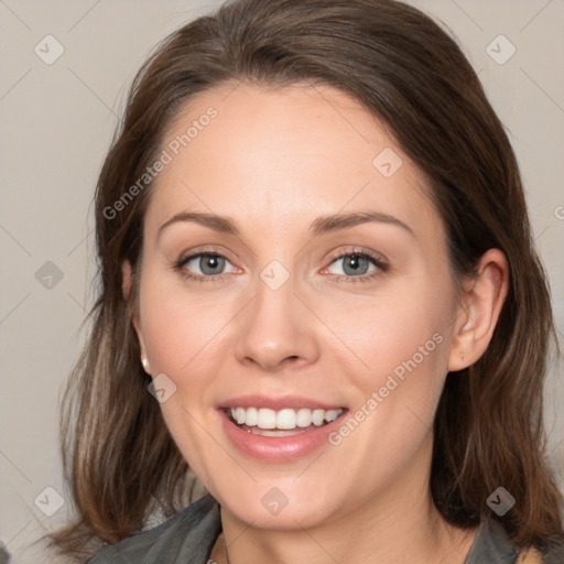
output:
[[329, 86], [203, 91], [177, 112], [161, 149], [169, 163], [152, 187], [154, 228], [183, 210], [295, 229], [367, 208], [419, 230], [437, 227], [419, 170], [377, 118]]

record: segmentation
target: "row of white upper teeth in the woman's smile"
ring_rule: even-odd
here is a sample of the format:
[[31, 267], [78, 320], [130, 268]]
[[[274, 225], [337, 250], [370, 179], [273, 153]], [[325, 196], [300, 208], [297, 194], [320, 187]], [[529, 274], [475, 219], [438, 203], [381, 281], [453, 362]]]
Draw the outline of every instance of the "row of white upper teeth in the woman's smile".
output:
[[310, 410], [302, 408], [300, 410], [283, 409], [280, 411], [267, 408], [231, 408], [231, 417], [239, 425], [257, 426], [259, 429], [272, 430], [279, 429], [290, 431], [296, 427], [308, 427], [312, 424], [321, 426], [325, 422], [335, 421], [343, 410]]

